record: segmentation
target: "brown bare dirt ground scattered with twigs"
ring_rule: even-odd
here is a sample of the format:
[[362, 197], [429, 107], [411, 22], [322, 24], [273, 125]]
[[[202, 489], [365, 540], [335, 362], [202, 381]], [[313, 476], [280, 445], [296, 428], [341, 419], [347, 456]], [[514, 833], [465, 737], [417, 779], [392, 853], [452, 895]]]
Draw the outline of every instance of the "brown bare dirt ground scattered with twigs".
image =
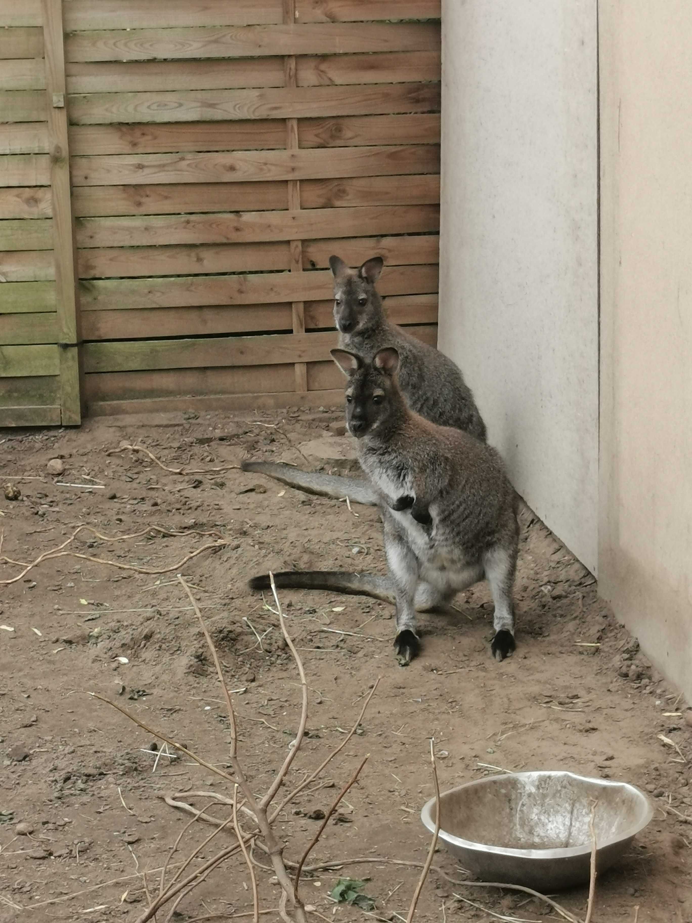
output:
[[[227, 764], [229, 724], [218, 679], [175, 580], [178, 569], [202, 605], [230, 689], [241, 690], [234, 694], [239, 749], [257, 793], [288, 752], [300, 687], [277, 618], [247, 591], [248, 577], [292, 567], [383, 569], [376, 509], [350, 511], [237, 470], [169, 473], [142, 454], [109, 450], [123, 440], [137, 442], [173, 468], [208, 470], [245, 456], [301, 463], [294, 447], [339, 419], [338, 413], [297, 410], [282, 417], [172, 414], [89, 421], [78, 431], [0, 434], [0, 484], [21, 492], [16, 500], [0, 492], [2, 556], [29, 562], [84, 523], [105, 536], [138, 534], [114, 542], [83, 531], [65, 551], [166, 569], [140, 574], [64, 555], [0, 586], [0, 919], [134, 923], [146, 906], [137, 870], [161, 869], [190, 820], [162, 796], [179, 794], [200, 809], [209, 799], [189, 793], [231, 794], [185, 754], [170, 760], [147, 752], [151, 734], [84, 694], [113, 699], [210, 763]], [[55, 458], [63, 460], [64, 473], [47, 472]], [[74, 486], [96, 483], [102, 489]], [[144, 532], [154, 526], [182, 534]], [[459, 617], [421, 618], [424, 651], [406, 669], [391, 647], [389, 605], [281, 593], [310, 686], [309, 736], [290, 782], [297, 784], [337, 746], [381, 677], [359, 733], [323, 777], [333, 785], [312, 785], [281, 814], [277, 832], [285, 855], [300, 856], [318, 826], [310, 815], [328, 809], [370, 754], [308, 864], [355, 857], [422, 862], [429, 835], [419, 811], [433, 794], [429, 737], [435, 737], [443, 790], [494, 774], [494, 767], [561, 768], [647, 790], [657, 808], [654, 820], [599, 879], [592, 923], [691, 923], [692, 827], [679, 817], [692, 816], [686, 703], [617, 625], [591, 575], [528, 512], [522, 527], [518, 650], [502, 664], [489, 652], [492, 605], [485, 585], [459, 597]], [[178, 567], [215, 535], [230, 544]], [[17, 563], [0, 564], [0, 580], [20, 571]], [[209, 810], [228, 816], [226, 809]], [[195, 824], [181, 855], [210, 829]], [[213, 855], [217, 841], [233, 842], [219, 833], [195, 862]], [[435, 865], [461, 877], [444, 849]], [[385, 861], [346, 865], [306, 874], [303, 896], [322, 918], [364, 919], [363, 910], [333, 903], [328, 892], [339, 876], [367, 878], [363, 891], [376, 899], [376, 916], [405, 920], [418, 875], [415, 867]], [[270, 910], [279, 888], [264, 872], [258, 878], [261, 906]], [[246, 914], [252, 909], [248, 882], [242, 858], [234, 857], [173, 918], [185, 923], [207, 914]], [[158, 892], [159, 873], [147, 883]], [[584, 918], [586, 889], [557, 899]], [[169, 909], [159, 914], [160, 923]], [[433, 870], [417, 918], [558, 917], [526, 894], [464, 888]]]

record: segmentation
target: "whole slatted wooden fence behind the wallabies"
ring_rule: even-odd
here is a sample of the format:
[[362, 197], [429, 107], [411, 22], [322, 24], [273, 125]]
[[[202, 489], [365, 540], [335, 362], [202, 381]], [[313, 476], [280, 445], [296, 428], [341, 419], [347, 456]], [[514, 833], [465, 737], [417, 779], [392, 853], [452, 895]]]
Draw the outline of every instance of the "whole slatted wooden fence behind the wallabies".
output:
[[439, 0], [0, 0], [0, 27], [0, 426], [340, 402], [331, 253], [381, 254], [435, 342]]

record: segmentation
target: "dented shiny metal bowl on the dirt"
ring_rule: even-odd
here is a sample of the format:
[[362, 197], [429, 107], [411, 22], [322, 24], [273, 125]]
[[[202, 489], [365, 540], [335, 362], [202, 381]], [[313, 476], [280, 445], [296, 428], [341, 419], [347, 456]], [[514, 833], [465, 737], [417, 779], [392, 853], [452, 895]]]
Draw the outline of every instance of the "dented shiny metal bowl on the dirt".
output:
[[[594, 801], [601, 873], [653, 816], [634, 785], [562, 772], [492, 775], [440, 796], [439, 839], [482, 881], [558, 891], [589, 881]], [[435, 798], [421, 820], [435, 831]]]

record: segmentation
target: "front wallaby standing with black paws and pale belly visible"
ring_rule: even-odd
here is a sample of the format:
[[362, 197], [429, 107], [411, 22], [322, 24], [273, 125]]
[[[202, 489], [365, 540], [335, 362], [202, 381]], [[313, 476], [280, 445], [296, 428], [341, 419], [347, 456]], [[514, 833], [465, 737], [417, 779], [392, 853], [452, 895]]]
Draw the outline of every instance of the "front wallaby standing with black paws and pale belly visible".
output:
[[[419, 651], [416, 610], [449, 603], [487, 580], [495, 602], [491, 650], [515, 648], [512, 585], [517, 565], [517, 495], [498, 452], [481, 439], [437, 426], [404, 400], [394, 348], [371, 361], [346, 350], [332, 357], [348, 376], [346, 423], [377, 493], [385, 524], [388, 577], [331, 571], [284, 571], [277, 587], [337, 590], [394, 601], [400, 664]], [[401, 363], [403, 374], [403, 363]], [[250, 581], [265, 590], [268, 575]]]

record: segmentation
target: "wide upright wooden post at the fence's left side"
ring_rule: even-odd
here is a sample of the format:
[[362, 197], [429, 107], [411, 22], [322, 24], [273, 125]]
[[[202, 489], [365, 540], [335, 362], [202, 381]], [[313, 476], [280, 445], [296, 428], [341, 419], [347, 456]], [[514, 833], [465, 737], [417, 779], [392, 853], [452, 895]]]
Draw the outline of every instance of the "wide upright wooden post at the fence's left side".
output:
[[48, 147], [53, 193], [60, 409], [64, 426], [78, 426], [81, 422], [78, 271], [70, 196], [63, 0], [42, 0], [41, 7], [46, 92], [48, 94]]

